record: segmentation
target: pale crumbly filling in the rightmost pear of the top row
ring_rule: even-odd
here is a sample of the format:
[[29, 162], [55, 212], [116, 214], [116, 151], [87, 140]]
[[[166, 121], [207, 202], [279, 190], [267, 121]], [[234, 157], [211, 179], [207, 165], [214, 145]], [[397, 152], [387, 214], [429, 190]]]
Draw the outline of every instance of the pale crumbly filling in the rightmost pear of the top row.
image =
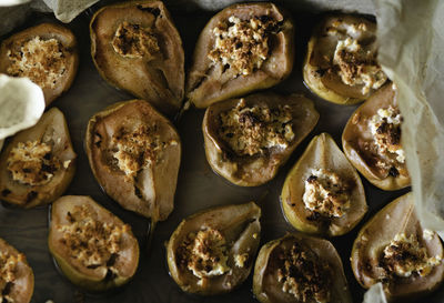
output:
[[340, 21], [327, 29], [330, 36], [339, 39], [333, 54], [337, 74], [347, 85], [363, 85], [363, 94], [367, 94], [371, 89], [381, 88], [387, 80], [376, 62], [376, 51], [367, 46], [366, 32], [367, 27], [364, 23], [346, 24]]

